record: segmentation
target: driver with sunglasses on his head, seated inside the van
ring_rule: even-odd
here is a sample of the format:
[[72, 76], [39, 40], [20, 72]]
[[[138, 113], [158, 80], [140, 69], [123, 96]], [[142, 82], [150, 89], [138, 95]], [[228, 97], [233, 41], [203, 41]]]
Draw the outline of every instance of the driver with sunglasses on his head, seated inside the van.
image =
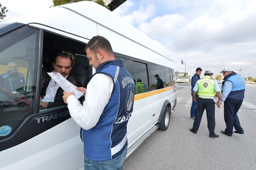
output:
[[[65, 77], [69, 82], [77, 87], [82, 87], [79, 80], [72, 74], [72, 57], [63, 53], [56, 53], [54, 56], [54, 61], [52, 62], [54, 71], [59, 72], [63, 77]], [[63, 89], [49, 76], [47, 75], [45, 83], [40, 92], [40, 105], [45, 108], [52, 108], [57, 106], [66, 105], [63, 102]]]

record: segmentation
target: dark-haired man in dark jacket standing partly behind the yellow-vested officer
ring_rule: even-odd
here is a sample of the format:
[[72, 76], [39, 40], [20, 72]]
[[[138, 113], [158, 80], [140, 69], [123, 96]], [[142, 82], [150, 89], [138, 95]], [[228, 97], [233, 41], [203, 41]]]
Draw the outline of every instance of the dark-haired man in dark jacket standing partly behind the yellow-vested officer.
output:
[[[196, 74], [194, 74], [193, 77], [191, 78], [191, 96], [192, 96], [192, 105], [190, 108], [190, 119], [191, 120], [195, 120], [196, 106], [197, 106], [197, 102], [195, 102], [193, 99], [193, 88], [195, 87], [197, 80], [200, 79], [201, 73], [202, 73], [202, 68], [198, 67], [198, 68], [196, 68]], [[196, 93], [198, 93], [198, 91]]]

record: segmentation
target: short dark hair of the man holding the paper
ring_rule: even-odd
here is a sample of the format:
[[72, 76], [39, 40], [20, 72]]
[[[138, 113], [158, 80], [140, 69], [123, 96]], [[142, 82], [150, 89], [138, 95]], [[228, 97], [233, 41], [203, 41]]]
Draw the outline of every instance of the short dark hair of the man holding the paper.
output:
[[103, 50], [107, 54], [113, 54], [113, 49], [111, 47], [110, 42], [106, 38], [100, 35], [97, 35], [91, 38], [91, 40], [88, 42], [88, 44], [85, 47], [85, 51], [87, 50], [87, 48], [89, 48], [91, 52], [94, 54], [97, 53], [97, 50]]

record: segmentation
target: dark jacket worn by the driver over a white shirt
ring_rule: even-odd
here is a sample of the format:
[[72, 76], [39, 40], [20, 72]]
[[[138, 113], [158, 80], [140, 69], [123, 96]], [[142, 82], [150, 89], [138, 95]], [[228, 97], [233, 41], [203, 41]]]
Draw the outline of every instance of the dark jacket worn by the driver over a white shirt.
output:
[[[74, 84], [76, 87], [82, 87], [82, 84], [72, 74], [72, 71], [70, 71], [70, 73], [67, 77], [67, 80], [70, 83]], [[40, 96], [42, 98], [44, 98], [44, 96], [46, 95], [46, 90], [47, 90], [47, 87], [48, 87], [50, 81], [51, 81], [51, 77], [49, 75], [47, 75], [45, 83], [43, 84], [43, 87], [40, 90]], [[47, 105], [47, 108], [53, 108], [53, 107], [57, 107], [57, 106], [67, 105], [66, 103], [63, 102], [63, 98], [62, 98], [63, 97], [63, 92], [64, 92], [64, 90], [61, 87], [59, 87], [57, 92], [56, 92], [56, 95], [54, 97], [54, 102], [49, 102], [48, 105]], [[80, 99], [82, 99], [82, 98], [80, 98]]]

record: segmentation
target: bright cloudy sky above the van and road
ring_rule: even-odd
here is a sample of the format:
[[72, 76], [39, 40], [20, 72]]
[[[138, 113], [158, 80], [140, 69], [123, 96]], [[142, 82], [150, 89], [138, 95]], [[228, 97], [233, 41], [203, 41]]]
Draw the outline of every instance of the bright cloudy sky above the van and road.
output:
[[[1, 0], [1, 4], [9, 10], [8, 19], [53, 3]], [[256, 77], [256, 0], [127, 0], [113, 13], [164, 45], [175, 71], [185, 72], [181, 60], [188, 74], [197, 67], [211, 68], [214, 75], [225, 66], [239, 69], [241, 52], [241, 75]]]

